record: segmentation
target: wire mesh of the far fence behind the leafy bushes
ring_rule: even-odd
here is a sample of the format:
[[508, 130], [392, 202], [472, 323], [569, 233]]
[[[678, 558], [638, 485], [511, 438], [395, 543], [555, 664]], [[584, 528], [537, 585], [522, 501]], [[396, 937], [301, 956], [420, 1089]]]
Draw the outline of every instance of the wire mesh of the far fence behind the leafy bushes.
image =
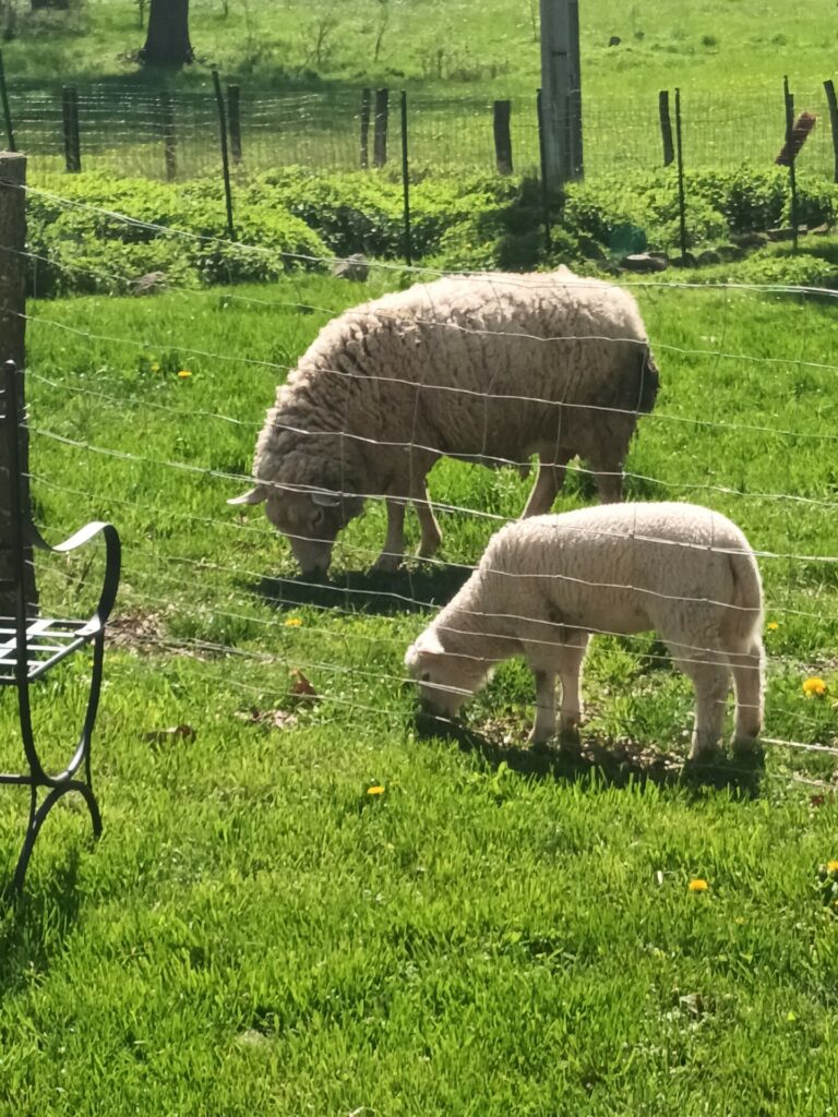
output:
[[[380, 113], [374, 90], [276, 92], [236, 87], [231, 127], [234, 155], [248, 171], [302, 165], [321, 171], [353, 171], [398, 160], [400, 120], [391, 94], [387, 140], [373, 150]], [[211, 90], [155, 92], [126, 86], [78, 86], [79, 155], [85, 169], [103, 169], [143, 178], [188, 179], [212, 173], [220, 161], [219, 123]], [[517, 172], [539, 166], [535, 90], [511, 103], [510, 141]], [[440, 173], [496, 171], [493, 103], [445, 99], [410, 93], [411, 165]], [[834, 178], [836, 137], [830, 128], [827, 93], [820, 84], [796, 90], [798, 109], [811, 112], [818, 126], [801, 156], [802, 165]], [[63, 90], [10, 85], [10, 106], [18, 147], [37, 165], [66, 165], [66, 113]], [[737, 96], [734, 102], [706, 95], [683, 96], [685, 160], [689, 168], [725, 170], [742, 163], [770, 165], [785, 131], [781, 87]], [[596, 101], [583, 105], [584, 166], [588, 174], [654, 170], [664, 163], [657, 98], [603, 111]], [[384, 154], [385, 152], [385, 154]]]

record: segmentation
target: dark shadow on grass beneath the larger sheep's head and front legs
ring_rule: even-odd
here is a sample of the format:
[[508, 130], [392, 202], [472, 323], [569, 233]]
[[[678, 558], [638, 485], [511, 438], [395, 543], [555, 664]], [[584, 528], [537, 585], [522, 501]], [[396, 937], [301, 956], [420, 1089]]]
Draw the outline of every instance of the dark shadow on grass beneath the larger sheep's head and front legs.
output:
[[265, 577], [250, 590], [277, 609], [315, 605], [387, 617], [438, 609], [450, 601], [470, 573], [468, 566], [408, 567], [394, 574], [350, 571], [320, 583]]

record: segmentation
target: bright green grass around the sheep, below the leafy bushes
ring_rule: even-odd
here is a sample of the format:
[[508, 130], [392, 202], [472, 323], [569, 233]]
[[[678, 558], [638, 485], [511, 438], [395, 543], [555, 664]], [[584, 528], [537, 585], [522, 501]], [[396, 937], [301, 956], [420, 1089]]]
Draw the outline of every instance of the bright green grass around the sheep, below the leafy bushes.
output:
[[[105, 836], [85, 849], [66, 801], [28, 900], [0, 914], [0, 1100], [96, 1117], [835, 1111], [838, 923], [817, 878], [838, 858], [834, 753], [769, 746], [761, 779], [729, 763], [680, 782], [692, 695], [647, 637], [598, 641], [575, 760], [523, 746], [515, 663], [459, 747], [420, 738], [401, 667], [419, 603], [450, 594], [525, 483], [440, 464], [431, 493], [464, 509], [440, 516], [453, 565], [365, 574], [373, 503], [320, 588], [261, 514], [225, 505], [284, 369], [358, 297], [301, 276], [30, 305], [38, 514], [50, 537], [113, 518], [125, 569], [94, 760]], [[629, 493], [708, 504], [768, 553], [766, 735], [836, 747], [834, 307], [638, 297], [664, 388]], [[575, 474], [559, 506], [589, 488]], [[45, 571], [47, 603], [84, 598], [84, 573]], [[301, 671], [316, 697], [291, 693]], [[41, 695], [45, 732], [72, 720], [80, 680]], [[22, 808], [0, 803], [7, 871]]]

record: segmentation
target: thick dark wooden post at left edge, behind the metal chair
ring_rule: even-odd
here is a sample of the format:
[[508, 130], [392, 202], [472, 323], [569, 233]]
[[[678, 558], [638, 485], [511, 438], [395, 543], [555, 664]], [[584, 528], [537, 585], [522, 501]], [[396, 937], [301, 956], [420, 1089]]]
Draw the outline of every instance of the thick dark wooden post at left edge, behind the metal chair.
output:
[[[0, 152], [0, 357], [13, 361], [18, 369], [20, 405], [23, 402], [26, 364], [26, 155]], [[19, 429], [20, 461], [23, 472], [21, 508], [29, 515], [29, 440], [26, 428]], [[11, 488], [6, 462], [9, 448], [0, 447], [0, 581], [11, 576], [9, 546]], [[27, 551], [26, 599], [37, 603], [35, 567]], [[15, 596], [0, 588], [0, 613], [15, 614]]]

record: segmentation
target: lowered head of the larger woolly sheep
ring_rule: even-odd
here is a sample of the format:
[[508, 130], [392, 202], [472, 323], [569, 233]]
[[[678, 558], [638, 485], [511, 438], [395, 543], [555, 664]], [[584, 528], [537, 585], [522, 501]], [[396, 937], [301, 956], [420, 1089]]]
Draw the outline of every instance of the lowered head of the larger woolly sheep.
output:
[[261, 504], [268, 519], [291, 543], [304, 576], [325, 574], [332, 562], [337, 533], [360, 515], [363, 499], [347, 493], [297, 491], [283, 486], [256, 485], [228, 504]]

